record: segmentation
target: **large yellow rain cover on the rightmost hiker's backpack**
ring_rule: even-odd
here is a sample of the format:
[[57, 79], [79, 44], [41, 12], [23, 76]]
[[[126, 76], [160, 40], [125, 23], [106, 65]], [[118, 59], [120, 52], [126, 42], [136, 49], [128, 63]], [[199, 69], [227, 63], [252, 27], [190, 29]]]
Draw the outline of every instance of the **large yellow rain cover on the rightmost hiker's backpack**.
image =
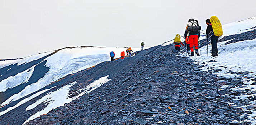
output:
[[215, 36], [222, 36], [223, 31], [222, 31], [221, 21], [219, 21], [217, 16], [212, 16], [210, 18], [210, 22], [212, 23], [214, 35]]

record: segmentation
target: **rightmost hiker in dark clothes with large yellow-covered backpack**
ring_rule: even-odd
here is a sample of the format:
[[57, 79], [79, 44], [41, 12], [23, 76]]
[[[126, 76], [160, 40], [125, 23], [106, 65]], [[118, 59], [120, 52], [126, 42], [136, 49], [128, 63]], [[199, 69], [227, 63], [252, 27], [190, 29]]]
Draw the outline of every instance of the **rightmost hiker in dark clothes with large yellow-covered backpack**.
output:
[[[217, 48], [217, 42], [219, 39], [219, 36], [222, 36], [222, 25], [217, 16], [212, 16], [210, 19], [205, 20], [207, 26], [206, 29], [206, 35], [207, 35], [207, 41], [209, 38], [211, 38], [212, 41], [212, 56], [218, 56], [218, 48]], [[208, 43], [207, 43], [208, 46]], [[207, 48], [208, 49], [208, 48]], [[208, 55], [208, 50], [207, 50]]]

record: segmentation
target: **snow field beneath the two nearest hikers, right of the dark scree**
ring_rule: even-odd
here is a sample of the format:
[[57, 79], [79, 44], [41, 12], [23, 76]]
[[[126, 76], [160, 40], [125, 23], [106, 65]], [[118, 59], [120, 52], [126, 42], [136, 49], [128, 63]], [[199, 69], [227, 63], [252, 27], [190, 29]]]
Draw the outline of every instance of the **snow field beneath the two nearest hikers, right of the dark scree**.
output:
[[[213, 69], [221, 69], [222, 71], [216, 72], [215, 74], [226, 77], [234, 77], [237, 74], [228, 73], [233, 72], [255, 72], [256, 71], [256, 39], [240, 41], [237, 43], [231, 43], [225, 45], [227, 41], [223, 41], [217, 44], [218, 55], [212, 57], [210, 49], [211, 45], [208, 46], [209, 56], [207, 57], [207, 46], [201, 48], [200, 56], [190, 57], [193, 60], [198, 60], [199, 62], [205, 62], [205, 67], [201, 69], [208, 71], [210, 67]], [[200, 53], [200, 52], [199, 52]], [[185, 55], [185, 54], [183, 54]], [[186, 56], [186, 55], [185, 55]], [[209, 62], [214, 60], [217, 62]]]

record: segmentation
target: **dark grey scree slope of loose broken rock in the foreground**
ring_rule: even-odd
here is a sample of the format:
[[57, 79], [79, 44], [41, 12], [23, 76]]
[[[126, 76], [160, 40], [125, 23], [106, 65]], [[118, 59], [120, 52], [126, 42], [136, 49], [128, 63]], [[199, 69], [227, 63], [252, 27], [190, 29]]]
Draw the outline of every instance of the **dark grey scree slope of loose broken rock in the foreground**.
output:
[[220, 88], [222, 80], [239, 81], [200, 71], [172, 48], [159, 45], [67, 76], [58, 82], [77, 82], [70, 97], [100, 77], [111, 80], [27, 125], [234, 125], [234, 120], [246, 120], [238, 117], [241, 109], [230, 105], [240, 93]]

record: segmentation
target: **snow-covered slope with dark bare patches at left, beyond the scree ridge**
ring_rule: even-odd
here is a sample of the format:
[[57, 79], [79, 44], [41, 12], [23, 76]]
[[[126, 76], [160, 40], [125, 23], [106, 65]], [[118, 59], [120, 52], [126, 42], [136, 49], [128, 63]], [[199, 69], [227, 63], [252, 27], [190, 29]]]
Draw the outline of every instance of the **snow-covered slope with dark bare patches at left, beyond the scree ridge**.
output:
[[[140, 50], [140, 48], [132, 49]], [[0, 115], [46, 92], [42, 88], [51, 82], [101, 62], [110, 61], [111, 51], [114, 51], [115, 58], [118, 58], [125, 50], [125, 48], [68, 47], [23, 59], [0, 60]], [[36, 93], [31, 95], [33, 92]]]

